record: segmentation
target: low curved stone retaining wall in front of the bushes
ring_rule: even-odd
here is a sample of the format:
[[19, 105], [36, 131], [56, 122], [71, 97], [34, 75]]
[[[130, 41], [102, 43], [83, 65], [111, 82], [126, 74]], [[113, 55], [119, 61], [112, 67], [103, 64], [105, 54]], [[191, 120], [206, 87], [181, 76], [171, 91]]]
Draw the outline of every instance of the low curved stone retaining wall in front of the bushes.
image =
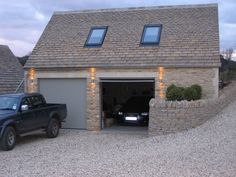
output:
[[149, 134], [161, 135], [194, 128], [219, 113], [236, 100], [236, 83], [220, 93], [217, 99], [198, 101], [150, 101]]

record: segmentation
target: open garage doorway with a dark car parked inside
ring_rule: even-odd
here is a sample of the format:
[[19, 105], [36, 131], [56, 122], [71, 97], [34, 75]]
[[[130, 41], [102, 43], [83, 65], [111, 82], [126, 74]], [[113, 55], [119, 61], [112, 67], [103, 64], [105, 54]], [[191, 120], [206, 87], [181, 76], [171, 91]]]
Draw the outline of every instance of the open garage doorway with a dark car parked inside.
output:
[[102, 128], [148, 127], [154, 83], [154, 79], [101, 79]]

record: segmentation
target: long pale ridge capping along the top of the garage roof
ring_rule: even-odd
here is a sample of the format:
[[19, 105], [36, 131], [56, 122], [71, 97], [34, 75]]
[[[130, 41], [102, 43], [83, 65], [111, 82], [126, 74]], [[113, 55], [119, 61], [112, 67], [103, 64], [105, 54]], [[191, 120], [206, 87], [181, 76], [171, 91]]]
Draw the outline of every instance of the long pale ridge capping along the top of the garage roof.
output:
[[154, 9], [204, 8], [204, 7], [218, 7], [218, 4], [209, 3], [209, 4], [188, 4], [188, 5], [169, 5], [169, 6], [142, 6], [142, 7], [127, 7], [127, 8], [86, 9], [86, 10], [75, 10], [75, 11], [55, 11], [54, 14], [58, 15], [58, 14], [136, 11], [136, 10], [154, 10]]

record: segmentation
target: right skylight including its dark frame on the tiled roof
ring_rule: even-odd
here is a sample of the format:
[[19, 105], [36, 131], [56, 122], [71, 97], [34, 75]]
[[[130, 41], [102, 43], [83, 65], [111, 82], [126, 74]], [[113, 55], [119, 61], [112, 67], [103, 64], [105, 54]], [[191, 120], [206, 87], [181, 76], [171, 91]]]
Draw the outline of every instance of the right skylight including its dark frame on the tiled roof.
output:
[[141, 44], [158, 45], [161, 39], [162, 25], [145, 25], [141, 38]]

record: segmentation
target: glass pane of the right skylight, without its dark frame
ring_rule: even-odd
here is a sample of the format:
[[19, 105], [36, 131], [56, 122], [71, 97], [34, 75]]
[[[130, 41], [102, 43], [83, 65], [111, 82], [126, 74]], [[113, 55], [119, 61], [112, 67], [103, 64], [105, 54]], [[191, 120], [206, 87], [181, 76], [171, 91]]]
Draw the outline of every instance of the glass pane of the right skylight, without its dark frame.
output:
[[146, 27], [143, 42], [157, 43], [160, 35], [160, 27]]

